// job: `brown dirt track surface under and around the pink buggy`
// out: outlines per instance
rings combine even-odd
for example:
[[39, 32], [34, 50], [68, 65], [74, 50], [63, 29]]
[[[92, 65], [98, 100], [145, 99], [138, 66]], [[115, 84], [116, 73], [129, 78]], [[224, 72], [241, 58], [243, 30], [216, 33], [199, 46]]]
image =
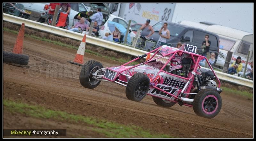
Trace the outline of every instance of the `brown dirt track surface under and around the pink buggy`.
[[[16, 37], [4, 31], [4, 51], [12, 52]], [[223, 91], [220, 113], [213, 119], [206, 119], [197, 116], [191, 107], [180, 107], [178, 104], [171, 108], [157, 106], [151, 96], [146, 96], [140, 102], [128, 100], [125, 87], [115, 83], [101, 82], [93, 90], [82, 87], [79, 82], [82, 67], [67, 62], [73, 61], [75, 49], [25, 37], [23, 54], [29, 55], [29, 68], [3, 64], [5, 99], [137, 125], [151, 132], [174, 137], [253, 136], [252, 100], [234, 97]], [[84, 63], [91, 59], [101, 62], [103, 67], [121, 65], [85, 53]], [[84, 137], [104, 137], [76, 123], [42, 120], [4, 111], [4, 129], [33, 128], [66, 128], [70, 137], [79, 132]], [[80, 130], [74, 131], [77, 128]]]

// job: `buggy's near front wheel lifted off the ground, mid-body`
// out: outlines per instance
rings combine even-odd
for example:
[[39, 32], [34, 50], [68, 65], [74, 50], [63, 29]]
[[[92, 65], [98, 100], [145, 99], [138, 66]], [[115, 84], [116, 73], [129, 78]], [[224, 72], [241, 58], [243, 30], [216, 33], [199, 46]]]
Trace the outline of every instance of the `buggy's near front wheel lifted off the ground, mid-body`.
[[143, 73], [134, 74], [127, 83], [126, 97], [132, 101], [141, 101], [148, 93], [149, 78]]

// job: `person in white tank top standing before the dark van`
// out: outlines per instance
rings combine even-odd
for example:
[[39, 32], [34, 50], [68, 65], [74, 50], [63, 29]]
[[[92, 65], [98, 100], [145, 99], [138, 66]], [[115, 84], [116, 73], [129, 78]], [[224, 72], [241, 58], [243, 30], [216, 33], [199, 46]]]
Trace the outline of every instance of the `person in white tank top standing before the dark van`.
[[161, 43], [166, 43], [166, 39], [170, 39], [170, 31], [167, 28], [168, 24], [165, 22], [163, 27], [160, 29], [159, 31], [159, 39], [156, 43], [156, 48], [158, 48], [159, 46], [161, 46]]

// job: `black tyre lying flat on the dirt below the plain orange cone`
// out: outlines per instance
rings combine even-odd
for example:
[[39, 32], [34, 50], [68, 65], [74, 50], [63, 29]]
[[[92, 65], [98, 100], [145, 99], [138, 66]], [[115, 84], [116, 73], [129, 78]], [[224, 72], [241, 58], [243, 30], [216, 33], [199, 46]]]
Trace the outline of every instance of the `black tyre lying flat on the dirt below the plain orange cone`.
[[15, 54], [12, 52], [3, 51], [4, 62], [15, 63], [20, 65], [28, 65], [29, 57], [28, 55]]

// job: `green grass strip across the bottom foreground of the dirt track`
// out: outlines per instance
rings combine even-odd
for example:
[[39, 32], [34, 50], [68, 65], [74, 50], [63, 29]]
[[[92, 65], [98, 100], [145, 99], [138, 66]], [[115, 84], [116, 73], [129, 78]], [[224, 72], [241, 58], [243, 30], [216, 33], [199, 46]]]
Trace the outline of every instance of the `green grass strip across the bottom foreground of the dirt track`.
[[12, 113], [25, 114], [27, 116], [43, 119], [54, 119], [58, 121], [84, 122], [92, 125], [89, 129], [105, 135], [106, 137], [114, 138], [129, 138], [129, 137], [155, 137], [155, 138], [171, 138], [166, 134], [151, 134], [149, 131], [134, 125], [124, 125], [112, 121], [96, 119], [92, 117], [68, 114], [63, 111], [54, 111], [46, 109], [42, 106], [33, 106], [26, 103], [15, 102], [11, 100], [3, 100], [4, 109]]

